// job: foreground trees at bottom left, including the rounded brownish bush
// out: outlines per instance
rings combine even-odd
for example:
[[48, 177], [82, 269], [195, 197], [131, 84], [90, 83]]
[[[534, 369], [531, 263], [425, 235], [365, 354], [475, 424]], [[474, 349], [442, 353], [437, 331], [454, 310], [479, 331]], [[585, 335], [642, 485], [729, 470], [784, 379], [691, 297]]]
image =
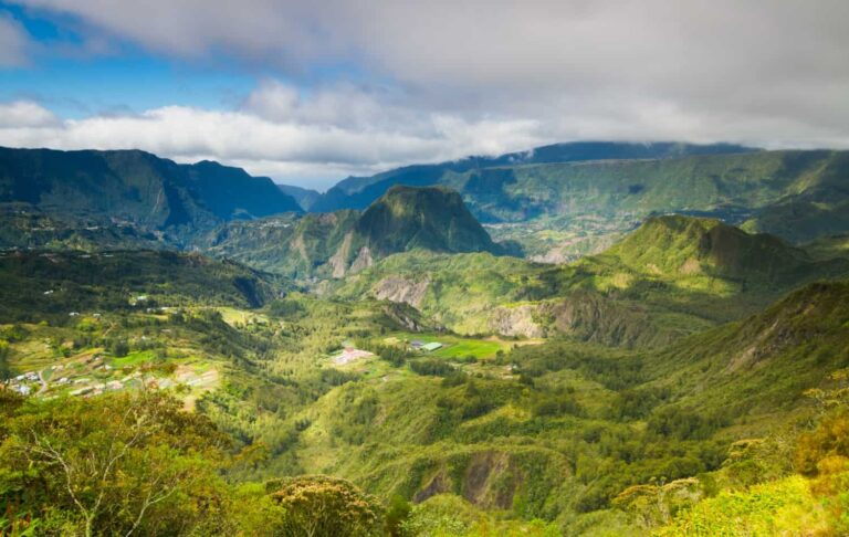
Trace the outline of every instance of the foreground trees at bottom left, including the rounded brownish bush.
[[375, 535], [382, 520], [380, 504], [345, 480], [228, 484], [220, 471], [247, 454], [159, 392], [0, 396], [4, 534]]

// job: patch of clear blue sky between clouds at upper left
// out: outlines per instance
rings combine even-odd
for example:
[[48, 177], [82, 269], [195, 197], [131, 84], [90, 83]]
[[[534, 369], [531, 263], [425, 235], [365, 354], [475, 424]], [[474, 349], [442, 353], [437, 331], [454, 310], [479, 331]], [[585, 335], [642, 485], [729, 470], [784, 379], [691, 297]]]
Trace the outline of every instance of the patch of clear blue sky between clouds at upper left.
[[63, 117], [140, 112], [168, 105], [232, 108], [256, 85], [258, 73], [231, 62], [192, 65], [151, 54], [132, 42], [87, 52], [73, 18], [0, 2], [0, 11], [31, 38], [28, 63], [0, 71], [0, 99], [35, 99]]

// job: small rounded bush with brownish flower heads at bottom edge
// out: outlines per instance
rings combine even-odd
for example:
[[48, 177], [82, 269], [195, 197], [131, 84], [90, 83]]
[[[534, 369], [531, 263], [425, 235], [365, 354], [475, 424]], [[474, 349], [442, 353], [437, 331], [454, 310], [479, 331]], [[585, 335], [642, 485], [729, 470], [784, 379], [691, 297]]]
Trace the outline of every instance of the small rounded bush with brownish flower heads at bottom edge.
[[271, 482], [272, 499], [285, 509], [283, 535], [367, 536], [381, 531], [382, 508], [349, 481], [325, 475]]

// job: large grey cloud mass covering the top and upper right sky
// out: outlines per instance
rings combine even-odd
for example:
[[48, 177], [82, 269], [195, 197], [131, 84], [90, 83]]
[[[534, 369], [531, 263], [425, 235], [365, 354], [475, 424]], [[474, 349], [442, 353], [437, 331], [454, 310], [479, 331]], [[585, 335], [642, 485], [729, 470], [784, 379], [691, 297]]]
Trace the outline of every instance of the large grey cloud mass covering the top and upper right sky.
[[302, 82], [339, 65], [390, 81], [308, 96], [268, 81], [244, 109], [281, 125], [423, 128], [415, 137], [430, 139], [442, 135], [422, 116], [497, 117], [535, 123], [545, 139], [800, 145], [840, 144], [849, 125], [845, 0], [17, 2], [70, 14], [86, 40], [189, 61], [229, 55]]

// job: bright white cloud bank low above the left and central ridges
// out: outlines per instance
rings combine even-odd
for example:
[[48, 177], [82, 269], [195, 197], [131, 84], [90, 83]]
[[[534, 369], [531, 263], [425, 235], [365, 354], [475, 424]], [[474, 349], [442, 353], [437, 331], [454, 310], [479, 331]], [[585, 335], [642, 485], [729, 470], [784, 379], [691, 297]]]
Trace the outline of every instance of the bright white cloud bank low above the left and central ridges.
[[[289, 90], [281, 87], [281, 92]], [[408, 114], [415, 116], [410, 123], [374, 124], [366, 128], [370, 115], [364, 115], [357, 118], [358, 125], [347, 126], [344, 109], [324, 106], [334, 99], [335, 96], [325, 93], [317, 103], [307, 99], [298, 105], [291, 117], [277, 115], [273, 119], [248, 108], [218, 112], [169, 106], [139, 115], [99, 115], [61, 122], [35, 103], [17, 102], [0, 105], [0, 114], [12, 110], [4, 115], [9, 120], [0, 123], [0, 145], [140, 148], [178, 161], [214, 159], [282, 182], [326, 188], [346, 175], [370, 175], [410, 162], [499, 152], [539, 141], [531, 133], [533, 125], [526, 122], [469, 123], [461, 118], [415, 116], [412, 112]], [[379, 116], [378, 110], [374, 114], [375, 118]]]

